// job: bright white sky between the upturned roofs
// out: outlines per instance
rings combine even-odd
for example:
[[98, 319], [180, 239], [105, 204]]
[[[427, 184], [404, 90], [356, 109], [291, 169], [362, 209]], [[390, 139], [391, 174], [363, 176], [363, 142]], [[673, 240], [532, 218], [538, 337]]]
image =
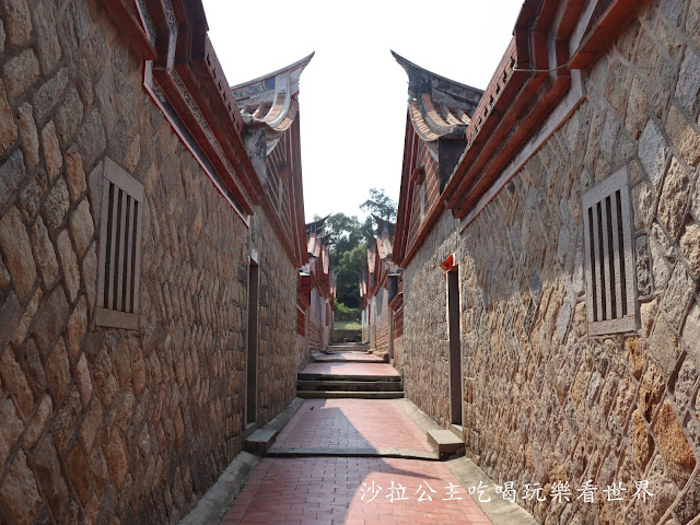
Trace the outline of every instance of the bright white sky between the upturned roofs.
[[304, 210], [364, 213], [372, 187], [398, 200], [407, 77], [389, 49], [486, 89], [522, 0], [203, 0], [230, 84], [315, 57], [300, 82]]

